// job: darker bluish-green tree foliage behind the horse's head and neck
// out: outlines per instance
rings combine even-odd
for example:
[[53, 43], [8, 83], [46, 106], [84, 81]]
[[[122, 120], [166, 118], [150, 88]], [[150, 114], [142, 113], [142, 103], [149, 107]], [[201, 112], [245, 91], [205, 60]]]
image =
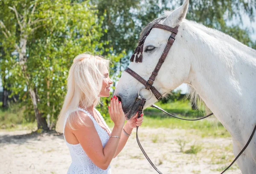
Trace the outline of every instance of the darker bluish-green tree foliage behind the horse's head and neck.
[[[183, 0], [93, 0], [100, 15], [104, 15], [102, 29], [108, 32], [103, 33], [101, 40], [109, 41], [104, 47], [113, 47], [113, 53], [125, 51], [128, 55], [133, 52], [137, 45], [139, 34], [143, 27], [153, 19], [160, 17], [164, 10], [175, 9], [183, 3]], [[241, 20], [241, 14], [248, 15], [253, 20], [253, 8], [255, 0], [209, 0], [189, 1], [187, 19], [203, 23], [211, 28], [222, 30], [234, 36], [236, 39], [249, 46], [249, 40], [237, 36], [235, 33], [242, 32], [245, 38], [249, 38], [247, 29], [240, 29], [239, 26], [228, 26], [227, 22], [237, 17]], [[233, 31], [230, 31], [233, 29]], [[128, 64], [128, 58], [121, 60], [122, 65]]]

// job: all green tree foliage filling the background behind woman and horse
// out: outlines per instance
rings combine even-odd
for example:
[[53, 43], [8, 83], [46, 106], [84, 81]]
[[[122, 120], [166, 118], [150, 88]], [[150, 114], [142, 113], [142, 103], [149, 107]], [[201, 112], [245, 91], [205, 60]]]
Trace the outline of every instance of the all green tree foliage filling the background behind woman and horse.
[[[81, 52], [105, 55], [113, 64], [110, 76], [117, 81], [123, 67], [128, 64], [128, 55], [133, 52], [139, 33], [151, 20], [163, 14], [165, 9], [174, 9], [183, 0], [1, 0], [0, 6], [0, 76], [11, 84], [9, 90], [19, 94], [26, 106], [23, 117], [35, 120], [33, 104], [28, 92], [34, 89], [38, 109], [43, 116], [50, 114], [55, 121], [66, 93], [66, 79], [73, 58]], [[247, 14], [254, 17], [255, 1], [246, 0], [190, 0], [187, 18], [219, 29], [242, 43], [256, 48], [248, 29], [228, 26], [232, 17]], [[17, 9], [18, 15], [14, 12]], [[18, 16], [18, 17], [17, 17]], [[20, 26], [20, 22], [26, 25]], [[22, 28], [22, 29], [21, 29]], [[6, 37], [8, 36], [8, 37]], [[21, 70], [19, 55], [20, 38], [26, 36], [28, 77]], [[6, 85], [4, 84], [4, 85]], [[7, 86], [6, 86], [7, 87]], [[112, 95], [112, 94], [111, 94]], [[174, 93], [167, 111], [183, 116], [201, 116], [190, 104], [175, 102], [182, 97]], [[98, 109], [108, 115], [109, 98], [102, 98]], [[179, 106], [184, 107], [181, 109]], [[150, 108], [145, 113], [158, 119], [160, 113]], [[152, 119], [153, 120], [153, 119]]]

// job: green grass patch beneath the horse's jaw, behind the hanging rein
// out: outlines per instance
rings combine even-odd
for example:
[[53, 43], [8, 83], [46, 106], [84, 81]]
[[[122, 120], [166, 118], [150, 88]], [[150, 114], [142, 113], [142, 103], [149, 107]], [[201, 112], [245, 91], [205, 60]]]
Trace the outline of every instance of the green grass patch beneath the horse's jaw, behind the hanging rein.
[[[156, 103], [169, 113], [183, 118], [195, 119], [204, 116], [203, 110], [192, 110], [188, 101], [177, 101], [172, 103], [161, 104]], [[229, 137], [230, 133], [226, 131], [220, 122], [210, 122], [208, 119], [198, 121], [186, 121], [167, 116], [160, 110], [155, 108], [147, 108], [144, 110], [144, 119], [141, 128], [170, 128], [170, 129], [192, 129], [199, 136]], [[214, 116], [211, 116], [214, 117]], [[113, 122], [108, 119], [107, 124], [113, 127]]]

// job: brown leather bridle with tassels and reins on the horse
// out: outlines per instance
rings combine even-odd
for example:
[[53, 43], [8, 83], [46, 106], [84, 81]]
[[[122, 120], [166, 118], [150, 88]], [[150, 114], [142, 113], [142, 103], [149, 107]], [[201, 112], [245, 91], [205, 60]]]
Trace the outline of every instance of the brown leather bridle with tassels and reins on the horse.
[[[166, 59], [166, 56], [168, 55], [168, 52], [169, 50], [171, 49], [172, 47], [172, 44], [174, 43], [175, 41], [175, 36], [177, 35], [177, 32], [178, 32], [178, 28], [179, 28], [179, 25], [176, 26], [175, 28], [172, 28], [170, 26], [166, 26], [166, 25], [162, 25], [162, 24], [159, 24], [159, 23], [155, 23], [151, 29], [153, 28], [159, 28], [159, 29], [164, 29], [164, 30], [167, 30], [169, 32], [172, 32], [172, 34], [170, 35], [169, 39], [168, 39], [168, 42], [166, 44], [166, 47], [160, 57], [160, 59], [158, 60], [157, 62], [157, 65], [154, 69], [154, 71], [152, 72], [151, 76], [149, 77], [148, 81], [146, 81], [144, 78], [142, 78], [140, 75], [138, 75], [137, 73], [135, 73], [133, 70], [131, 70], [130, 68], [126, 68], [125, 69], [125, 72], [127, 72], [128, 74], [130, 74], [131, 76], [133, 76], [135, 79], [137, 79], [137, 81], [139, 81], [140, 83], [142, 83], [145, 87], [142, 87], [140, 88], [140, 90], [142, 89], [146, 89], [146, 90], [149, 90], [151, 92], [151, 96], [152, 96], [152, 93], [154, 94], [154, 96], [157, 98], [157, 100], [160, 100], [162, 98], [162, 95], [161, 93], [154, 87], [152, 86], [153, 83], [154, 83], [154, 80], [157, 76], [157, 73], [159, 72], [163, 62], [165, 61]], [[143, 44], [145, 42], [145, 39], [146, 37], [149, 35], [149, 32], [151, 31], [151, 29], [149, 29], [149, 31], [145, 34], [144, 38], [142, 40], [139, 41], [138, 43], [138, 46], [137, 48], [135, 49], [134, 51], [134, 54], [131, 56], [131, 59], [130, 61], [134, 61], [134, 58], [135, 59], [135, 62], [142, 62], [142, 53], [143, 53]], [[135, 56], [136, 55], [136, 56]], [[140, 55], [140, 56], [139, 56]], [[145, 105], [145, 102], [149, 99], [151, 99], [151, 96], [148, 98], [148, 99], [144, 99], [140, 96], [140, 90], [138, 92], [138, 97], [137, 97], [137, 100], [140, 100], [140, 104], [139, 104], [139, 107], [138, 107], [138, 118], [140, 118], [140, 115], [141, 113], [143, 112], [143, 107]], [[174, 116], [168, 112], [166, 112], [165, 110], [163, 110], [162, 108], [156, 106], [156, 105], [151, 105], [151, 107], [154, 107], [154, 108], [157, 108], [158, 110], [161, 110], [163, 111], [164, 113], [168, 114], [169, 116], [172, 116], [172, 117], [175, 117], [177, 119], [182, 119], [182, 120], [188, 120], [188, 121], [196, 121], [196, 120], [201, 120], [201, 119], [204, 119], [204, 118], [207, 118], [208, 116], [211, 116], [213, 115], [213, 113], [210, 113], [208, 114], [207, 116], [204, 116], [204, 117], [201, 117], [201, 118], [198, 118], [198, 119], [183, 119], [183, 118], [180, 118], [180, 117], [177, 117], [177, 116]], [[146, 154], [146, 152], [144, 151], [142, 145], [140, 144], [140, 140], [139, 140], [139, 137], [138, 137], [138, 126], [137, 126], [137, 129], [136, 129], [136, 139], [137, 139], [137, 142], [138, 142], [138, 145], [141, 149], [141, 151], [143, 152], [144, 156], [146, 157], [146, 159], [148, 160], [148, 162], [152, 165], [152, 167], [159, 173], [159, 174], [162, 174], [158, 169], [157, 167], [153, 164], [153, 162], [150, 160], [150, 158], [148, 157], [148, 155]], [[234, 164], [234, 162], [239, 158], [239, 156], [244, 152], [244, 150], [247, 148], [247, 146], [249, 145], [251, 139], [253, 138], [253, 134], [255, 133], [255, 130], [256, 130], [256, 125], [253, 129], [253, 132], [249, 138], [249, 140], [247, 141], [246, 145], [244, 146], [244, 148], [241, 150], [241, 152], [237, 155], [237, 157], [233, 160], [233, 162], [224, 170], [221, 172], [221, 174], [223, 174], [225, 171], [228, 170], [228, 168], [231, 167], [231, 165]]]

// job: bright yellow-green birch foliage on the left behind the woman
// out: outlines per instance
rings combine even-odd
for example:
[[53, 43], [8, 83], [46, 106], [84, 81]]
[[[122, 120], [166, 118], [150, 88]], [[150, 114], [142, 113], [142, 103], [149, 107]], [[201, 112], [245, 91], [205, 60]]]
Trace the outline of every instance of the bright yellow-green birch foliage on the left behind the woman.
[[[28, 116], [34, 115], [27, 91], [30, 87], [36, 91], [39, 112], [44, 116], [53, 115], [51, 119], [54, 121], [64, 101], [66, 79], [73, 58], [82, 52], [102, 54], [104, 42], [99, 42], [99, 39], [103, 32], [103, 18], [98, 16], [98, 11], [87, 1], [5, 0], [0, 3], [5, 9], [0, 12], [5, 25], [2, 25], [2, 31], [8, 30], [11, 33], [10, 37], [0, 40], [5, 52], [1, 59], [1, 70], [5, 74], [1, 76], [8, 76], [7, 81], [12, 84], [10, 89], [13, 94], [20, 93], [20, 99], [23, 104], [26, 103]], [[22, 26], [24, 31], [9, 6], [15, 6], [25, 23], [30, 23]], [[17, 49], [15, 45], [20, 44], [20, 35], [27, 35], [26, 65], [29, 78], [23, 75], [18, 55], [14, 52]], [[110, 58], [117, 61], [118, 56]]]

